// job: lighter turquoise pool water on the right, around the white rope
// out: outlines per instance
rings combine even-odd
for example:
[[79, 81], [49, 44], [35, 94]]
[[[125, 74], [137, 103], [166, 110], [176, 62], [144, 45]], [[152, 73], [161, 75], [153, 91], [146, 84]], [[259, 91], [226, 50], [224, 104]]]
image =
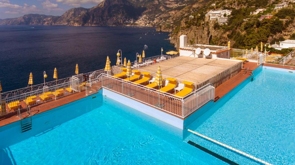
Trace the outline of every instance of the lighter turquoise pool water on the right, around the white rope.
[[[295, 164], [295, 73], [263, 68], [187, 128], [271, 164]], [[238, 164], [256, 164], [207, 140], [191, 140]]]

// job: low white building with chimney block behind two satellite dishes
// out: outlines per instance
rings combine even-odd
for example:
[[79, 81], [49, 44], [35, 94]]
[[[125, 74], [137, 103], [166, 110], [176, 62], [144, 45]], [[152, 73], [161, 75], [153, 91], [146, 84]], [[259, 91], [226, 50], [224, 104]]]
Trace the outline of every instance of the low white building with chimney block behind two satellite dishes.
[[[230, 59], [230, 49], [228, 46], [215, 46], [215, 45], [202, 45], [194, 44], [187, 45], [187, 36], [181, 35], [180, 37], [180, 55], [196, 58], [227, 58]], [[209, 55], [204, 54], [204, 50], [208, 48], [210, 50]], [[198, 49], [201, 52], [198, 54]]]

